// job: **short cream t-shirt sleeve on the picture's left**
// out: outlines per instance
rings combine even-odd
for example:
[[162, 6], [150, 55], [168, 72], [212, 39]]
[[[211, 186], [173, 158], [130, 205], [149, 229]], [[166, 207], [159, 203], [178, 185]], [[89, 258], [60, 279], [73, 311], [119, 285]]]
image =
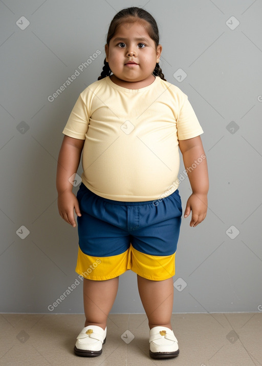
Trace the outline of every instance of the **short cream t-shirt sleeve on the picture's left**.
[[88, 132], [89, 122], [88, 108], [80, 94], [63, 129], [63, 134], [84, 140], [85, 134]]

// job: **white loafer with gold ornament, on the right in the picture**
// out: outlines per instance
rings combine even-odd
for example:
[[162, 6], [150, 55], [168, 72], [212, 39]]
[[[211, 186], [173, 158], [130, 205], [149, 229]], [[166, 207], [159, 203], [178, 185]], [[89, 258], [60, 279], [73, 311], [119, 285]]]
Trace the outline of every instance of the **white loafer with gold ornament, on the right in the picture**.
[[154, 327], [149, 331], [149, 354], [152, 358], [172, 358], [179, 355], [178, 340], [171, 329]]

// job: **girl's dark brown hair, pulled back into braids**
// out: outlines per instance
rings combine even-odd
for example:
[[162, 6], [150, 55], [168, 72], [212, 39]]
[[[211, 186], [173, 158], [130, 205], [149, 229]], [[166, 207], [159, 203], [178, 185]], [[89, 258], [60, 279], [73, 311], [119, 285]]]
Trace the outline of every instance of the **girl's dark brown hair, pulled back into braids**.
[[[143, 19], [148, 23], [148, 27], [146, 27], [147, 33], [149, 37], [155, 42], [156, 47], [159, 45], [159, 33], [158, 33], [158, 26], [156, 20], [149, 14], [146, 10], [132, 7], [120, 10], [112, 19], [108, 33], [106, 38], [106, 43], [109, 45], [111, 38], [114, 36], [115, 32], [117, 31], [118, 27], [122, 25], [124, 22], [133, 23], [139, 19]], [[101, 75], [99, 76], [98, 80], [103, 79], [107, 76], [111, 75], [111, 69], [109, 67], [108, 62], [104, 59], [104, 67]], [[164, 74], [162, 72], [159, 63], [156, 63], [155, 69], [152, 72], [154, 76], [159, 76], [161, 79], [165, 80]]]

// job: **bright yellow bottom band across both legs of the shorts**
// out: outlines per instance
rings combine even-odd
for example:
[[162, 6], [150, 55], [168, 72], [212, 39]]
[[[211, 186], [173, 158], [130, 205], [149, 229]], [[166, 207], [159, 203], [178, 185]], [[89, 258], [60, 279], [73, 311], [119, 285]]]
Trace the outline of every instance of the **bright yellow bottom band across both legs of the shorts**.
[[148, 280], [163, 281], [175, 274], [175, 256], [176, 253], [167, 256], [149, 255], [139, 252], [130, 245], [124, 253], [110, 257], [95, 257], [84, 254], [78, 248], [76, 272], [84, 278], [103, 281], [132, 270]]

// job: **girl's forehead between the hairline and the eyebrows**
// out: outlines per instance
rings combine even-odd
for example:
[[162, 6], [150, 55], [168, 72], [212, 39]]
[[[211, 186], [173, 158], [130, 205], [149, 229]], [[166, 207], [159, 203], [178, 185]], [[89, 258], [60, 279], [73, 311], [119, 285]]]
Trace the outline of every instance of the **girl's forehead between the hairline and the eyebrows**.
[[[123, 37], [130, 38], [147, 38], [148, 41], [152, 41], [147, 33], [146, 27], [148, 23], [146, 21], [124, 22], [117, 29], [112, 39]], [[154, 42], [154, 41], [153, 41]]]

